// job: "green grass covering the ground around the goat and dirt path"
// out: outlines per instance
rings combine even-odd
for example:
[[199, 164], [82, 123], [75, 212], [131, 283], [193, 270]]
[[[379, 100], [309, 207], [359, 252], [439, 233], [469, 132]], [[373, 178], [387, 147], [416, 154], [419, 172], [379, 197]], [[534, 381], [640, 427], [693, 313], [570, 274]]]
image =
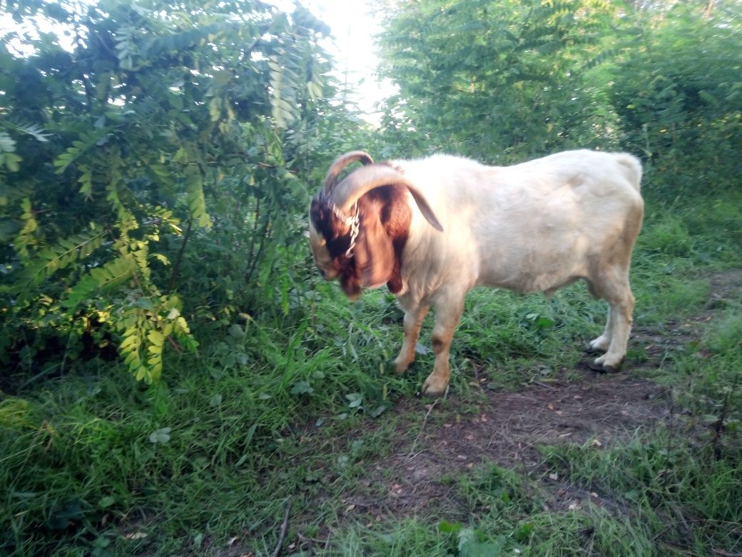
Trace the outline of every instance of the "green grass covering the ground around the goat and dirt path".
[[271, 555], [289, 501], [283, 555], [740, 553], [738, 285], [709, 306], [712, 276], [742, 267], [740, 201], [650, 206], [635, 328], [679, 340], [651, 362], [632, 347], [627, 373], [666, 385], [672, 412], [617, 445], [542, 446], [534, 466], [443, 462], [419, 484], [440, 490], [433, 502], [404, 503], [395, 478], [420, 470], [390, 467], [394, 455], [431, 451], [426, 431], [487, 411], [487, 390], [580, 381], [605, 306], [581, 285], [551, 299], [474, 291], [449, 400], [431, 411], [413, 395], [432, 354], [401, 377], [386, 364], [401, 340], [393, 299], [350, 304], [317, 282], [311, 311], [212, 333], [199, 359], [171, 356], [160, 385], [92, 361], [0, 394], [0, 553]]

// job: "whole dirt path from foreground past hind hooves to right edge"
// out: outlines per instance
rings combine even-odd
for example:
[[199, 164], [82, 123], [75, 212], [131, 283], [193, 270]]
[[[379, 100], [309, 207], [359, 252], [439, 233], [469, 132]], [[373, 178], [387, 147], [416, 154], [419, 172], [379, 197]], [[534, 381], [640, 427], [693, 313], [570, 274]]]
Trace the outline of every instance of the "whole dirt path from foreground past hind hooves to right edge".
[[551, 509], [574, 508], [587, 498], [603, 504], [597, 494], [550, 477], [538, 446], [620, 445], [637, 431], [649, 431], [667, 420], [671, 412], [666, 388], [638, 372], [658, 368], [672, 351], [697, 340], [706, 322], [741, 296], [742, 270], [715, 274], [710, 281], [709, 302], [693, 319], [672, 324], [662, 333], [648, 328], [634, 331], [631, 343], [640, 347], [643, 361], [627, 365], [623, 372], [595, 374], [588, 369], [586, 356], [577, 380], [573, 371], [569, 378], [517, 392], [489, 391], [483, 385], [486, 400], [479, 404], [457, 397], [427, 405], [399, 401], [393, 408], [399, 421], [391, 454], [370, 462], [367, 478], [342, 503], [355, 519], [459, 512], [465, 518], [450, 478], [494, 463], [541, 477], [539, 483], [551, 494], [546, 502]]

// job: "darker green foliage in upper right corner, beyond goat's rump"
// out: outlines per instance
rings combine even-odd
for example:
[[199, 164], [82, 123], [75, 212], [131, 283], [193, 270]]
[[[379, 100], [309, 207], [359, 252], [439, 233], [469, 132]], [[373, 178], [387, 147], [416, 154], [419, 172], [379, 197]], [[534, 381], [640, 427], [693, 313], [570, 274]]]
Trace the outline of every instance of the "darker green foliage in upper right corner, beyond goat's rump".
[[711, 13], [676, 4], [646, 19], [636, 48], [614, 60], [608, 94], [623, 144], [654, 167], [657, 188], [679, 195], [739, 186], [741, 51], [742, 4]]

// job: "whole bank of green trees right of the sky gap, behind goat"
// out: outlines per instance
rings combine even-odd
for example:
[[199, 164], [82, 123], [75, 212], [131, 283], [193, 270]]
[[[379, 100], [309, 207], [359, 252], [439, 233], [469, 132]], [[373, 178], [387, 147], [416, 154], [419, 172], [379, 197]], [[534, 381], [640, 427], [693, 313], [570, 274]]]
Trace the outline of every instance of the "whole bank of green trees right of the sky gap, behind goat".
[[[699, 158], [732, 178], [742, 137], [741, 4], [712, 6], [386, 3], [381, 73], [398, 84], [387, 137], [498, 163], [622, 147], [689, 183], [706, 175]], [[708, 148], [703, 157], [698, 144]]]

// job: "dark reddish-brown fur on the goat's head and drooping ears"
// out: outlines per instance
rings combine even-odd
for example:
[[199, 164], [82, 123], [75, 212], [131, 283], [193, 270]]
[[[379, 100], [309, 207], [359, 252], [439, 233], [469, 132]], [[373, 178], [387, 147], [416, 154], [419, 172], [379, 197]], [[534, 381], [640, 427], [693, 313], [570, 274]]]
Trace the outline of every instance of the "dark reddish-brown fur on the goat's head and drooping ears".
[[350, 298], [361, 287], [375, 288], [387, 283], [398, 293], [402, 288], [401, 255], [412, 220], [407, 189], [381, 186], [358, 199], [358, 238], [352, 255], [350, 228], [338, 219], [321, 196], [309, 209], [309, 241], [315, 262], [327, 280], [339, 277]]

